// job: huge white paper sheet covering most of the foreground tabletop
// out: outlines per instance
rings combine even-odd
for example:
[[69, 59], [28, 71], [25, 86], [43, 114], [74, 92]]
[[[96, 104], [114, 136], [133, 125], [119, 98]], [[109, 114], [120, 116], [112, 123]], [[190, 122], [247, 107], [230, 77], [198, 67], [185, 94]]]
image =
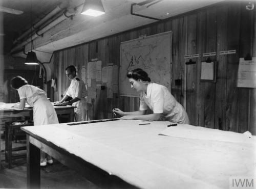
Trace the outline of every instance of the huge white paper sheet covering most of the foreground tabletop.
[[24, 128], [139, 188], [226, 189], [231, 176], [255, 175], [255, 143], [159, 136], [169, 122], [140, 123]]

